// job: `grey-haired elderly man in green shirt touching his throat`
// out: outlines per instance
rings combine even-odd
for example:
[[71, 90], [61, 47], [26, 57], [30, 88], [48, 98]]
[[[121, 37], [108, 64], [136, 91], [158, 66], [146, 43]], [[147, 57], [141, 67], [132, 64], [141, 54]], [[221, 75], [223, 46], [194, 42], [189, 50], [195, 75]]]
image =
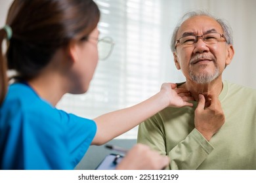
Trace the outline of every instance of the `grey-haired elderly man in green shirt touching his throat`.
[[232, 30], [203, 11], [173, 32], [177, 69], [194, 107], [165, 108], [139, 125], [138, 142], [170, 158], [168, 169], [256, 169], [256, 91], [223, 80], [234, 56]]

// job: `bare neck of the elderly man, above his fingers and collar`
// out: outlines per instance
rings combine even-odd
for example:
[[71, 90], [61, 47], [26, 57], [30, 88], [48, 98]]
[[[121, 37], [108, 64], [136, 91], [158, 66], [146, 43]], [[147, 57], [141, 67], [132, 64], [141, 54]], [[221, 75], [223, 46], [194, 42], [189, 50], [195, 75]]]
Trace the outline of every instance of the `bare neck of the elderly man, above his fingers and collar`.
[[188, 90], [196, 101], [198, 101], [198, 96], [200, 93], [205, 96], [207, 101], [209, 95], [219, 96], [223, 90], [223, 82], [221, 78], [216, 78], [215, 80], [206, 84], [198, 84], [192, 80], [187, 80], [184, 84], [181, 85], [181, 88]]

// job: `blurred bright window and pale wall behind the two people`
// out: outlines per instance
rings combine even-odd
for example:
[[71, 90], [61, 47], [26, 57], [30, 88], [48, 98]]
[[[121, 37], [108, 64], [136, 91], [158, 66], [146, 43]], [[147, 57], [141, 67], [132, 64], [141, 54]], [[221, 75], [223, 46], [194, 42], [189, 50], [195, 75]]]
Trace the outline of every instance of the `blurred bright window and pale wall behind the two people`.
[[[256, 88], [256, 1], [253, 0], [95, 0], [101, 11], [100, 37], [115, 46], [110, 58], [99, 61], [89, 92], [66, 94], [58, 103], [85, 118], [135, 105], [154, 95], [163, 82], [183, 82], [170, 50], [179, 18], [198, 8], [227, 20], [233, 29], [235, 56], [224, 80]], [[0, 0], [0, 27], [11, 0]], [[40, 35], [39, 35], [40, 36]], [[136, 139], [137, 127], [117, 137]]]

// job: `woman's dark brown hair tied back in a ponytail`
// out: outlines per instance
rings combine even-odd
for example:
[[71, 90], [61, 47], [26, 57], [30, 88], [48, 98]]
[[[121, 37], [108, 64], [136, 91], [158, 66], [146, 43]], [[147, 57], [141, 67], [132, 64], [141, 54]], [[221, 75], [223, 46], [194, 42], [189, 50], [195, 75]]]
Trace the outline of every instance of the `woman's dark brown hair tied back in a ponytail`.
[[[87, 41], [99, 20], [93, 0], [14, 0], [6, 21], [12, 29], [7, 54], [0, 50], [0, 105], [8, 90], [7, 69], [21, 80], [34, 78], [58, 48]], [[0, 29], [0, 45], [5, 38], [5, 29]]]

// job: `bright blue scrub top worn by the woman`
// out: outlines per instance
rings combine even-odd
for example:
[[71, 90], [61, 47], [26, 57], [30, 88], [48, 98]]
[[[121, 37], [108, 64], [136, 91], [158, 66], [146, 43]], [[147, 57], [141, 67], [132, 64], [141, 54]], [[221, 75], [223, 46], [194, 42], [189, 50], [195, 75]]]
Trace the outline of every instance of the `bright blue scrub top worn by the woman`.
[[96, 133], [93, 120], [58, 110], [27, 84], [0, 107], [0, 169], [74, 169]]

